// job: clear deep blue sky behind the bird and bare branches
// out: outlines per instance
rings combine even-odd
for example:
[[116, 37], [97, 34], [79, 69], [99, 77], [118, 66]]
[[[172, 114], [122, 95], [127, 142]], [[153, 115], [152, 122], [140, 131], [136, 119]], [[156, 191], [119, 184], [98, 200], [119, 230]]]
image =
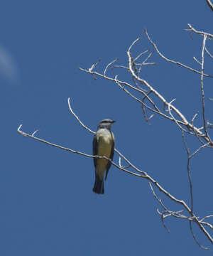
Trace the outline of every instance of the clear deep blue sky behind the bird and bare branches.
[[[181, 132], [155, 116], [148, 125], [141, 106], [117, 85], [78, 69], [99, 58], [101, 72], [114, 58], [125, 65], [126, 50], [143, 28], [168, 57], [193, 68], [199, 65], [200, 36], [184, 31], [187, 23], [212, 31], [213, 12], [203, 1], [2, 1], [0, 10], [1, 82], [1, 255], [202, 255], [186, 220], [165, 220], [148, 182], [111, 167], [104, 196], [92, 192], [92, 159], [22, 137], [16, 130], [92, 154], [89, 134], [70, 114], [67, 98], [94, 131], [104, 118], [116, 119], [116, 148], [165, 189], [189, 203], [187, 156]], [[213, 48], [208, 42], [209, 50]], [[152, 49], [146, 37], [133, 53]], [[166, 63], [158, 55], [143, 78], [187, 118], [201, 110], [200, 76]], [[206, 72], [212, 73], [207, 58]], [[131, 78], [122, 70], [123, 80]], [[204, 80], [207, 97], [212, 80]], [[212, 119], [212, 102], [207, 117]], [[201, 115], [200, 115], [201, 117]], [[197, 126], [200, 125], [200, 117]], [[195, 138], [188, 138], [197, 149]], [[195, 212], [213, 213], [212, 155], [204, 149], [192, 161]], [[115, 161], [118, 156], [115, 154]], [[155, 190], [171, 210], [181, 210]], [[195, 227], [202, 245], [209, 246]]]

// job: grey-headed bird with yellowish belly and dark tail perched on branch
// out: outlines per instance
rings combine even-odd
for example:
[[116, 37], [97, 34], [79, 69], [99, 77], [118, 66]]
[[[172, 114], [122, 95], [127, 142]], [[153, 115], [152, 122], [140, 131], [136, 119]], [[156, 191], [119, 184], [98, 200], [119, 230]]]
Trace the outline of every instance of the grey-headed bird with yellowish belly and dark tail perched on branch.
[[[94, 156], [106, 156], [107, 158], [113, 160], [114, 156], [114, 134], [111, 132], [111, 124], [115, 121], [110, 119], [104, 119], [98, 124], [98, 129], [93, 137], [93, 155]], [[94, 193], [103, 194], [104, 193], [104, 171], [106, 172], [105, 180], [107, 179], [107, 174], [111, 166], [111, 162], [107, 159], [96, 159], [94, 158], [94, 168], [95, 168], [95, 181], [94, 188], [92, 189]]]

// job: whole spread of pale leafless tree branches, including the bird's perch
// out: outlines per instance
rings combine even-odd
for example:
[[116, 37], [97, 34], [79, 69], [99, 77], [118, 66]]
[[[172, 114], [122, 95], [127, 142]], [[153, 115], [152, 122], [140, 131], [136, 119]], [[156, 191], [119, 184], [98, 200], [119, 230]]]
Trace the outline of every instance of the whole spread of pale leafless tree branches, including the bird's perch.
[[[133, 100], [136, 100], [136, 102], [138, 102], [141, 105], [142, 110], [143, 110], [143, 116], [147, 122], [153, 117], [154, 114], [159, 114], [160, 116], [165, 117], [165, 119], [170, 119], [170, 121], [175, 122], [175, 124], [180, 128], [180, 130], [182, 132], [182, 141], [185, 146], [185, 150], [187, 151], [187, 174], [188, 174], [188, 179], [189, 179], [189, 183], [190, 183], [190, 205], [189, 206], [187, 205], [187, 203], [185, 203], [185, 201], [176, 198], [171, 193], [166, 191], [165, 188], [163, 188], [163, 186], [160, 186], [160, 184], [157, 181], [155, 181], [154, 178], [149, 176], [146, 171], [142, 171], [141, 169], [138, 169], [138, 167], [136, 167], [134, 164], [132, 164], [131, 161], [129, 161], [129, 159], [127, 159], [126, 156], [121, 154], [121, 152], [118, 149], [114, 149], [114, 151], [117, 154], [119, 154], [118, 164], [116, 164], [116, 162], [111, 161], [111, 159], [108, 159], [105, 156], [93, 156], [91, 154], [86, 154], [82, 151], [76, 151], [73, 149], [69, 149], [67, 147], [60, 146], [58, 144], [53, 144], [44, 139], [35, 137], [35, 134], [38, 132], [38, 130], [36, 130], [32, 134], [28, 134], [21, 130], [22, 125], [20, 125], [20, 127], [18, 127], [18, 133], [25, 137], [30, 137], [31, 139], [35, 139], [39, 142], [43, 142], [50, 146], [55, 146], [55, 147], [58, 147], [60, 149], [66, 150], [66, 151], [70, 151], [75, 154], [80, 154], [82, 156], [86, 156], [86, 157], [90, 157], [90, 158], [106, 159], [112, 165], [114, 165], [117, 169], [120, 169], [121, 171], [125, 171], [128, 174], [137, 176], [138, 178], [144, 178], [145, 180], [149, 181], [149, 185], [151, 186], [151, 191], [153, 193], [154, 198], [158, 201], [158, 203], [160, 203], [160, 206], [163, 208], [162, 212], [160, 212], [160, 210], [157, 210], [157, 211], [158, 211], [158, 214], [160, 214], [160, 218], [162, 220], [162, 223], [163, 223], [163, 226], [165, 227], [165, 229], [169, 232], [168, 228], [165, 225], [165, 218], [168, 218], [171, 216], [174, 218], [182, 218], [184, 220], [187, 220], [187, 221], [189, 221], [190, 232], [192, 233], [192, 236], [195, 239], [195, 242], [197, 242], [197, 244], [200, 247], [202, 247], [203, 249], [208, 249], [207, 247], [203, 247], [202, 245], [200, 245], [200, 243], [198, 242], [198, 240], [192, 230], [192, 223], [195, 223], [198, 226], [198, 228], [200, 228], [202, 233], [204, 233], [204, 235], [207, 237], [207, 239], [213, 245], [213, 238], [205, 229], [205, 228], [213, 229], [213, 225], [208, 223], [207, 221], [204, 221], [207, 218], [212, 217], [213, 215], [208, 215], [200, 220], [200, 217], [197, 217], [197, 215], [195, 215], [195, 213], [194, 213], [193, 194], [192, 194], [192, 177], [191, 177], [191, 171], [190, 171], [190, 159], [192, 159], [192, 157], [195, 156], [195, 154], [197, 154], [204, 147], [213, 147], [213, 142], [209, 138], [209, 134], [207, 133], [207, 129], [213, 127], [213, 124], [209, 123], [209, 121], [206, 122], [207, 119], [206, 119], [206, 115], [205, 115], [205, 98], [204, 98], [204, 96], [205, 96], [204, 95], [204, 77], [213, 78], [213, 76], [211, 76], [211, 75], [204, 74], [204, 51], [207, 52], [207, 54], [211, 58], [213, 57], [206, 48], [207, 39], [211, 39], [211, 38], [213, 38], [213, 36], [209, 33], [204, 33], [202, 31], [195, 30], [195, 28], [192, 28], [192, 26], [190, 24], [188, 24], [188, 26], [190, 29], [188, 29], [187, 31], [195, 32], [195, 33], [203, 36], [201, 61], [199, 61], [199, 60], [197, 60], [197, 58], [193, 57], [193, 59], [200, 65], [200, 67], [201, 67], [200, 71], [190, 68], [189, 66], [184, 65], [178, 61], [174, 61], [174, 60], [170, 60], [170, 59], [166, 58], [163, 55], [163, 53], [160, 53], [160, 51], [158, 50], [158, 47], [156, 46], [155, 43], [153, 43], [153, 41], [151, 40], [151, 38], [148, 35], [148, 32], [146, 30], [145, 30], [145, 33], [148, 38], [148, 41], [153, 45], [156, 52], [158, 53], [158, 55], [160, 55], [161, 58], [163, 58], [164, 60], [166, 60], [170, 63], [179, 65], [182, 68], [187, 68], [187, 70], [190, 70], [194, 73], [200, 74], [200, 87], [201, 87], [201, 97], [202, 97], [202, 122], [203, 122], [203, 127], [201, 127], [201, 128], [197, 128], [194, 125], [194, 121], [195, 121], [195, 118], [197, 117], [197, 113], [194, 115], [194, 117], [192, 117], [192, 121], [188, 122], [187, 118], [185, 117], [185, 114], [182, 114], [182, 112], [180, 112], [180, 110], [178, 110], [178, 108], [173, 105], [173, 102], [175, 101], [175, 99], [168, 102], [167, 100], [165, 100], [165, 97], [163, 97], [163, 95], [161, 95], [158, 92], [158, 90], [155, 90], [155, 87], [151, 86], [151, 84], [149, 84], [146, 80], [141, 78], [142, 75], [140, 74], [140, 72], [141, 72], [141, 68], [143, 67], [143, 65], [151, 65], [151, 64], [155, 64], [155, 63], [151, 63], [151, 62], [147, 63], [148, 59], [151, 58], [151, 55], [153, 54], [152, 52], [148, 54], [148, 57], [144, 57], [145, 60], [143, 60], [141, 63], [136, 63], [136, 61], [138, 61], [138, 59], [141, 58], [141, 56], [148, 53], [148, 50], [145, 50], [142, 53], [136, 55], [136, 57], [134, 57], [133, 54], [131, 53], [131, 49], [140, 40], [140, 38], [137, 38], [136, 41], [133, 41], [133, 43], [131, 43], [131, 46], [129, 47], [129, 49], [127, 51], [129, 66], [126, 67], [125, 65], [114, 65], [114, 67], [111, 67], [111, 69], [112, 68], [124, 68], [125, 70], [128, 70], [128, 73], [129, 73], [129, 75], [131, 75], [133, 82], [129, 83], [129, 82], [121, 81], [118, 79], [118, 75], [116, 75], [114, 78], [109, 77], [107, 75], [108, 68], [113, 63], [115, 63], [116, 60], [118, 60], [117, 58], [115, 60], [112, 60], [111, 63], [107, 64], [107, 66], [104, 68], [103, 73], [97, 73], [95, 71], [95, 68], [99, 64], [100, 60], [98, 60], [97, 63], [93, 64], [92, 67], [89, 68], [88, 70], [85, 70], [83, 68], [80, 68], [80, 70], [83, 70], [84, 72], [89, 73], [94, 78], [96, 78], [96, 76], [99, 76], [100, 78], [107, 79], [111, 82], [114, 82], [114, 84], [118, 85], [121, 88], [121, 90], [124, 90], [124, 92], [126, 92], [127, 95], [129, 95]], [[145, 89], [143, 89], [143, 87]], [[157, 101], [155, 102], [156, 98], [157, 98]], [[209, 99], [212, 100], [211, 98], [209, 98]], [[68, 106], [69, 106], [70, 112], [77, 119], [77, 122], [79, 122], [80, 125], [82, 127], [84, 127], [84, 129], [87, 129], [88, 132], [95, 134], [95, 132], [92, 131], [92, 129], [89, 129], [89, 127], [87, 127], [80, 120], [80, 118], [77, 116], [77, 114], [75, 114], [75, 112], [72, 110], [70, 98], [68, 98]], [[152, 112], [151, 115], [148, 112], [148, 110], [150, 110]], [[148, 117], [148, 115], [150, 115], [150, 117]], [[198, 147], [198, 149], [195, 150], [192, 154], [190, 154], [190, 148], [187, 146], [187, 143], [186, 143], [186, 138], [185, 138], [186, 134], [196, 136], [200, 142], [200, 147]], [[124, 165], [122, 165], [123, 163], [121, 164], [121, 161], [124, 161]], [[131, 171], [129, 171], [128, 169], [130, 169]], [[164, 196], [169, 198], [170, 201], [178, 203], [178, 205], [181, 206], [182, 210], [172, 211], [172, 210], [168, 209], [168, 207], [165, 206], [165, 203], [163, 203], [163, 201], [160, 199], [160, 197], [155, 193], [155, 191], [153, 189], [154, 186], [155, 186], [155, 188], [158, 188], [159, 191], [161, 193], [163, 193]], [[184, 213], [182, 213], [182, 211], [184, 211]]]

